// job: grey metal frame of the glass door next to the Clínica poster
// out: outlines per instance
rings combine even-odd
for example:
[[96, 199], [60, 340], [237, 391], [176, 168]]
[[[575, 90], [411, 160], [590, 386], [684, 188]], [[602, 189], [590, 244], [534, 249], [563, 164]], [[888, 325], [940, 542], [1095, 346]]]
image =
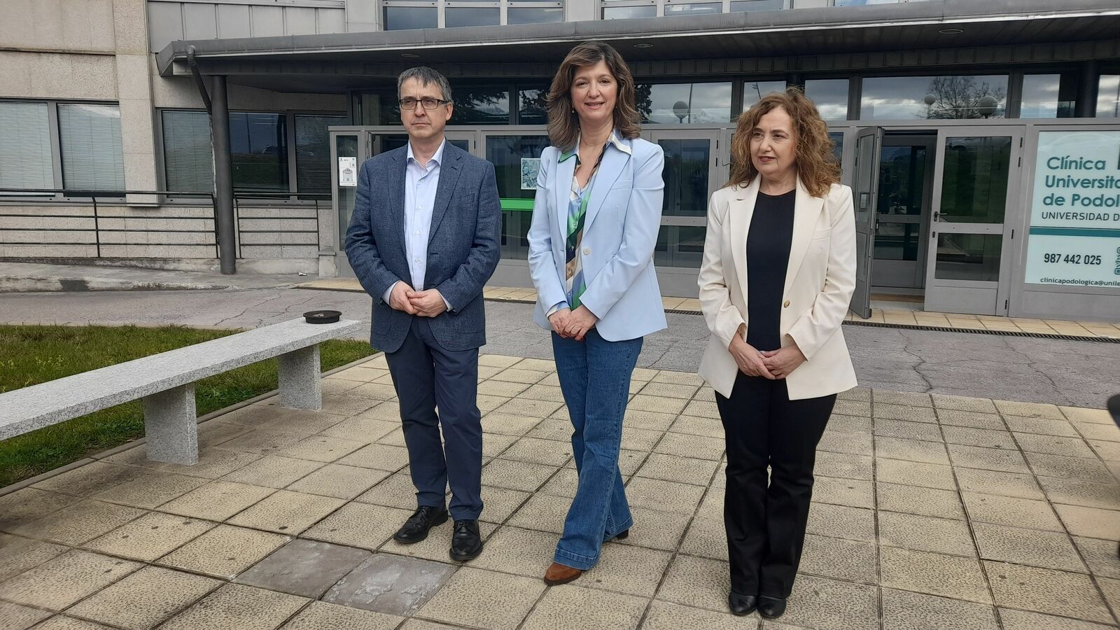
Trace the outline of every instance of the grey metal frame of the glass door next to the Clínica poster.
[[[1007, 315], [1011, 291], [1011, 269], [1017, 251], [1015, 226], [1020, 222], [1023, 206], [1023, 143], [1026, 126], [976, 126], [968, 128], [941, 127], [937, 129], [937, 150], [933, 179], [933, 214], [931, 215], [926, 252], [925, 309], [943, 313], [969, 313], [977, 315]], [[1011, 152], [1008, 158], [1007, 196], [1001, 223], [951, 223], [941, 220], [941, 195], [944, 185], [945, 143], [950, 138], [1010, 138]], [[1000, 234], [998, 280], [946, 280], [937, 279], [937, 235], [950, 234]], [[1021, 237], [1021, 232], [1019, 234]], [[980, 297], [978, 290], [995, 290], [992, 307], [969, 306], [965, 298]], [[954, 299], [955, 298], [955, 299]]]

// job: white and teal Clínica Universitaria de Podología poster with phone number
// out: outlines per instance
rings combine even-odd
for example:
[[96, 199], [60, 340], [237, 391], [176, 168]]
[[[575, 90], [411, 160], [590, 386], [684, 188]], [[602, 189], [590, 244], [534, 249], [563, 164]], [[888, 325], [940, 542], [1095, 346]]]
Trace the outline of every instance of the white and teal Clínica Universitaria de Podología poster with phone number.
[[1120, 287], [1120, 131], [1042, 131], [1026, 281]]

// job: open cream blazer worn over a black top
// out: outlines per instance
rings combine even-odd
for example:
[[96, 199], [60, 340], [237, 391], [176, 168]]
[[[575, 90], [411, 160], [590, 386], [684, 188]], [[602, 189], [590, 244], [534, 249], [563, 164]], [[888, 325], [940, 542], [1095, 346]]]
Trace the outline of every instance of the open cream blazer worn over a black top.
[[[747, 231], [759, 178], [728, 186], [708, 202], [708, 235], [700, 266], [700, 308], [711, 337], [700, 376], [730, 397], [739, 368], [728, 346], [747, 322]], [[808, 359], [786, 377], [791, 400], [856, 387], [856, 370], [840, 325], [856, 288], [856, 215], [851, 188], [833, 184], [823, 198], [797, 179], [793, 241], [782, 291], [782, 346], [796, 342]]]

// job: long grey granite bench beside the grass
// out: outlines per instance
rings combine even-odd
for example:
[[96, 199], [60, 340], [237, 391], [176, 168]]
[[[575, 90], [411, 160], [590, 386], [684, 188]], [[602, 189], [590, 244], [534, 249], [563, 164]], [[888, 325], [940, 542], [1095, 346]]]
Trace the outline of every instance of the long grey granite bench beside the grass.
[[276, 356], [280, 405], [320, 409], [319, 343], [364, 328], [348, 319], [291, 319], [0, 393], [0, 439], [142, 398], [148, 457], [192, 465], [198, 462], [195, 381]]

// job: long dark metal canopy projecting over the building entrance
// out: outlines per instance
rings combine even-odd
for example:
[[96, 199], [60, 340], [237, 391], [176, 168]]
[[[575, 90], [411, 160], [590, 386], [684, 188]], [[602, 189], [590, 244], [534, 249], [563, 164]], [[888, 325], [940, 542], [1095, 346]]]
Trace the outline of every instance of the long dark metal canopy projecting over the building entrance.
[[[942, 33], [946, 29], [962, 33]], [[572, 44], [586, 39], [609, 41], [633, 66], [669, 59], [718, 62], [805, 55], [827, 59], [839, 54], [890, 50], [1034, 47], [1094, 40], [1113, 44], [1117, 34], [1117, 0], [931, 0], [690, 17], [172, 41], [157, 55], [157, 64], [164, 76], [183, 74], [185, 64], [177, 62], [184, 62], [187, 47], [194, 46], [204, 74], [237, 76], [239, 83], [262, 86], [272, 83], [288, 91], [293, 87], [291, 80], [299, 75], [299, 91], [320, 91], [344, 89], [354, 83], [355, 76], [395, 76], [417, 64], [454, 66], [458, 76], [470, 76], [474, 67], [479, 77], [548, 77]], [[634, 44], [652, 46], [636, 48]], [[1116, 50], [1116, 46], [1107, 48]], [[410, 57], [403, 57], [404, 53]], [[1099, 56], [1099, 52], [1094, 53]], [[1008, 62], [1018, 59], [1005, 59]], [[931, 65], [940, 63], [934, 58]], [[495, 75], [502, 66], [507, 67]], [[829, 64], [823, 66], [821, 70], [827, 70]]]

